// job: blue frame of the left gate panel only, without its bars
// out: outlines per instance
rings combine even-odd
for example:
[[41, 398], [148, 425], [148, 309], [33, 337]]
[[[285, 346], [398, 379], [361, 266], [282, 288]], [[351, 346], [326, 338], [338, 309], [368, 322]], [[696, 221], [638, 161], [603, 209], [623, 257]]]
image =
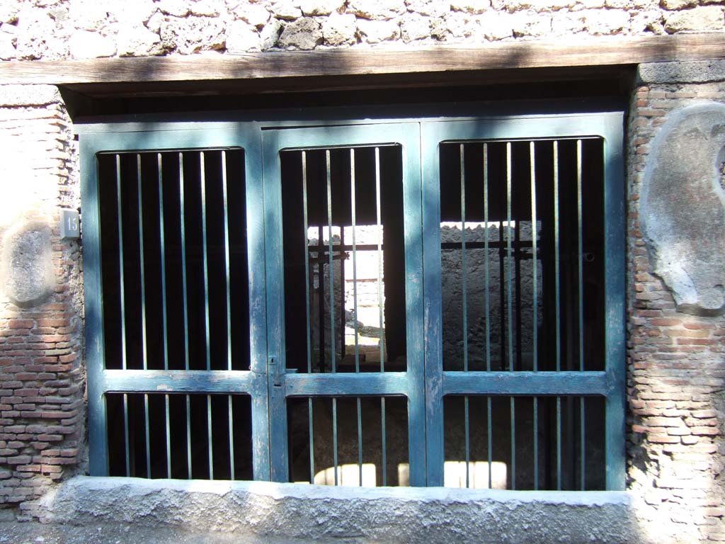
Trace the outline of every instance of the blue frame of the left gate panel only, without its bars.
[[[162, 152], [181, 149], [241, 147], [245, 155], [247, 202], [262, 201], [259, 128], [256, 123], [191, 123], [171, 130], [153, 125], [130, 125], [108, 133], [86, 128], [80, 138], [83, 172], [83, 282], [86, 293], [86, 364], [88, 368], [88, 442], [91, 476], [109, 471], [107, 393], [235, 393], [252, 399], [252, 466], [254, 479], [270, 479], [265, 344], [265, 270], [263, 260], [248, 260], [249, 371], [107, 370], [104, 368], [103, 302], [101, 293], [101, 232], [99, 172], [96, 154]], [[264, 255], [264, 217], [247, 214], [249, 255]], [[186, 331], [183, 331], [186, 334]]]

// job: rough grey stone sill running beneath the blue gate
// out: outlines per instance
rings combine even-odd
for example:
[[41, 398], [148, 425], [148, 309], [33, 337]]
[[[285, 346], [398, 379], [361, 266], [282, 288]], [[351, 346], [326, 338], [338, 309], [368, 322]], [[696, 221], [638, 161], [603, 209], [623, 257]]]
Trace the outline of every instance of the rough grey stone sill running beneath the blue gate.
[[626, 492], [322, 487], [75, 477], [28, 504], [45, 523], [281, 540], [637, 543]]

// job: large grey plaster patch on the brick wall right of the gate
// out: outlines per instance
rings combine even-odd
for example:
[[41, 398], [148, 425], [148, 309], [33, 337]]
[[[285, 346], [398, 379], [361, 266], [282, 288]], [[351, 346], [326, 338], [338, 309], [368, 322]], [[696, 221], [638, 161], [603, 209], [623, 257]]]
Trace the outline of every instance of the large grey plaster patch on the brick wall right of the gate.
[[674, 112], [653, 141], [640, 218], [655, 274], [677, 309], [725, 313], [725, 104]]

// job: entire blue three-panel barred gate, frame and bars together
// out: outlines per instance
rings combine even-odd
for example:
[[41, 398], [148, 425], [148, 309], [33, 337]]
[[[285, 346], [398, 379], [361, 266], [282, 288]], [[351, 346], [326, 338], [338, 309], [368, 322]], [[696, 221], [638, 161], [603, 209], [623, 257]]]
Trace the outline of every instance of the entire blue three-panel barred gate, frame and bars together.
[[624, 487], [621, 113], [81, 132], [91, 474]]

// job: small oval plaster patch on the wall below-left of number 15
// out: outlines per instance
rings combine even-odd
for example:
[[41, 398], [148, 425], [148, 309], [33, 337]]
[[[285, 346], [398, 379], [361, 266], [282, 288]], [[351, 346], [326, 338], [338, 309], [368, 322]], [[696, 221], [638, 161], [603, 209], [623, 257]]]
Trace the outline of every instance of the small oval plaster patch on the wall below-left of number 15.
[[7, 298], [20, 308], [41, 304], [53, 294], [55, 271], [51, 229], [43, 221], [22, 222], [5, 233], [0, 279]]

